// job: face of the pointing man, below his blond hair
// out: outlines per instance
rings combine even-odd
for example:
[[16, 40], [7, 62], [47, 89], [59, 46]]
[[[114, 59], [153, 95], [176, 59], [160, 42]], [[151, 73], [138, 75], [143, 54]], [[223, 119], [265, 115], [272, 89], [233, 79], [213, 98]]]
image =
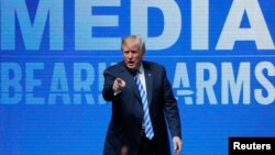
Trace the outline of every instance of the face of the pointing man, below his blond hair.
[[143, 57], [143, 52], [140, 46], [124, 45], [122, 46], [123, 59], [129, 69], [139, 69]]

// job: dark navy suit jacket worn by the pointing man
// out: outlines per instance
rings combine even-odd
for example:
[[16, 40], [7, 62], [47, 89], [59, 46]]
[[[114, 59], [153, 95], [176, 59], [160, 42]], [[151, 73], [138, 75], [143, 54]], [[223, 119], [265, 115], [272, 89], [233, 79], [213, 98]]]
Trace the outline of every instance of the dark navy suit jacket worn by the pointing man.
[[[157, 155], [170, 155], [166, 121], [170, 135], [182, 137], [177, 101], [162, 65], [143, 62], [143, 68]], [[127, 146], [129, 155], [135, 155], [141, 141], [143, 120], [142, 101], [136, 84], [123, 62], [107, 68], [103, 76], [102, 95], [106, 101], [112, 102], [112, 117], [103, 154], [119, 155], [121, 147]], [[125, 81], [125, 87], [117, 96], [112, 89], [116, 78]]]

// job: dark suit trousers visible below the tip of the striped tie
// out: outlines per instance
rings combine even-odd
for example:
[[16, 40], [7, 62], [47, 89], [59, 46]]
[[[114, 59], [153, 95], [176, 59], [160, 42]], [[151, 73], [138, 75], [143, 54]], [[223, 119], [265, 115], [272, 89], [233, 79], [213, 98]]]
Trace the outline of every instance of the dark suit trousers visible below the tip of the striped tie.
[[142, 130], [142, 133], [141, 133], [141, 144], [139, 147], [138, 155], [156, 155], [155, 140], [154, 137], [152, 140], [148, 140], [145, 136], [144, 129]]

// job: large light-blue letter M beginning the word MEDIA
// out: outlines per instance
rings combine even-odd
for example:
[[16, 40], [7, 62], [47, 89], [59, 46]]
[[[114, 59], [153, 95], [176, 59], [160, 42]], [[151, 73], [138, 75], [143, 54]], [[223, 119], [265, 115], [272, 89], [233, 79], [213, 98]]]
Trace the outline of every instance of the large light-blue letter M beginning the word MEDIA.
[[[33, 9], [33, 1], [26, 5], [25, 0], [0, 0], [1, 7], [1, 49], [15, 49], [16, 32], [21, 31], [26, 49], [38, 49], [45, 24], [50, 23], [50, 49], [63, 49], [63, 0], [40, 0]], [[36, 12], [29, 12], [36, 10]], [[30, 14], [34, 14], [33, 22]], [[18, 20], [18, 25], [15, 25]], [[20, 27], [20, 31], [15, 31]], [[46, 37], [45, 37], [46, 38]]]

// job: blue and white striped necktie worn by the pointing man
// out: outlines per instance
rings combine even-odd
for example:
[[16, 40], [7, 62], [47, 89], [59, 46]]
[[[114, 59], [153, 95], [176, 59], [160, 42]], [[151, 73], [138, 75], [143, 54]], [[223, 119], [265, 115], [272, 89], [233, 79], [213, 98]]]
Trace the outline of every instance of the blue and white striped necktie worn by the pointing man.
[[144, 128], [145, 128], [145, 136], [147, 139], [152, 140], [154, 136], [154, 131], [153, 131], [153, 126], [152, 126], [152, 122], [151, 122], [150, 113], [148, 113], [147, 96], [146, 96], [145, 90], [141, 84], [141, 79], [139, 78], [139, 71], [136, 71], [134, 75], [135, 75], [134, 81], [136, 82], [136, 85], [139, 87], [141, 99], [142, 99], [142, 104], [143, 104], [143, 111], [144, 111], [143, 123], [144, 123]]

